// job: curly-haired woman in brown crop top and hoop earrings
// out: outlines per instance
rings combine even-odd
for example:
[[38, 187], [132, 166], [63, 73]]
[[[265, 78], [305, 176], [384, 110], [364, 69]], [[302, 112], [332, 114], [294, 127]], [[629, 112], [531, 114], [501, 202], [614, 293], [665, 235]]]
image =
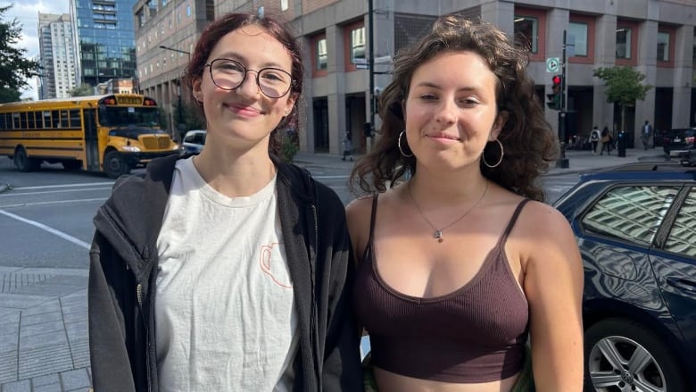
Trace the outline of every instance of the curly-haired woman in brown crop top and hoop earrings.
[[543, 203], [558, 151], [526, 64], [500, 29], [453, 15], [394, 59], [347, 206], [380, 392], [528, 390], [532, 369], [538, 391], [583, 388], [583, 267]]

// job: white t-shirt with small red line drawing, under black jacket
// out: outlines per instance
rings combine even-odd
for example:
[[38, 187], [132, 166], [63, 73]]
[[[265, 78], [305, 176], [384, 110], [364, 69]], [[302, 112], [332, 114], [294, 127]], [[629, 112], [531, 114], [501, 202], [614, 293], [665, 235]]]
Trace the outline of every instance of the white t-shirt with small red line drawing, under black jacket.
[[162, 390], [292, 390], [297, 315], [276, 179], [230, 198], [178, 161], [157, 250]]

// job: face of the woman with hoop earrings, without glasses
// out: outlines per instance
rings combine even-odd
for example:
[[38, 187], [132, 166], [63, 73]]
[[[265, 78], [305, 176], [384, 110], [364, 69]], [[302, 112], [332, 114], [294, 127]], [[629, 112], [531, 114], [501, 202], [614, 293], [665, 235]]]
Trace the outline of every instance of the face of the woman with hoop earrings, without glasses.
[[496, 121], [496, 80], [473, 52], [445, 52], [418, 67], [404, 104], [406, 137], [418, 164], [478, 167], [486, 142], [504, 123]]

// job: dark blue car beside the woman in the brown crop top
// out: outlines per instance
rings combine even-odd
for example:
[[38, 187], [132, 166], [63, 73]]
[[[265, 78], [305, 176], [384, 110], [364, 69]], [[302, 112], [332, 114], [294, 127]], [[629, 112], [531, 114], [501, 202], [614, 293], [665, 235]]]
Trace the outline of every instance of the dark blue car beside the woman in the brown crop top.
[[584, 263], [585, 391], [696, 390], [696, 170], [586, 173], [553, 205]]

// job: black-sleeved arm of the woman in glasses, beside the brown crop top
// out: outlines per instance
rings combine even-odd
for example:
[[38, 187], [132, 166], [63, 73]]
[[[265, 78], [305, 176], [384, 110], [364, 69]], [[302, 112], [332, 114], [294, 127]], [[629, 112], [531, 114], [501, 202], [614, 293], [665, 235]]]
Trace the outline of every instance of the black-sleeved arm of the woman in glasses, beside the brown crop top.
[[[340, 203], [340, 202], [339, 202]], [[352, 309], [354, 264], [345, 227], [343, 204], [338, 204], [331, 249], [327, 338], [322, 371], [323, 391], [362, 391], [360, 337]]]

